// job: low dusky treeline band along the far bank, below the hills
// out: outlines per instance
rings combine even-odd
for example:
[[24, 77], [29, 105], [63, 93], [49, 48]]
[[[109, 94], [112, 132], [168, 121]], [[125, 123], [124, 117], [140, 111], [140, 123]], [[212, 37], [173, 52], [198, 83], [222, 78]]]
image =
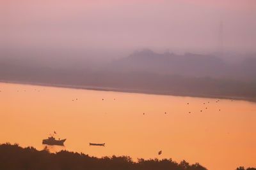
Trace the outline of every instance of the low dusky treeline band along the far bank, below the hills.
[[[145, 72], [119, 73], [109, 71], [54, 70], [15, 67], [1, 71], [0, 81], [111, 89], [121, 92], [166, 94], [193, 97], [224, 97], [256, 101], [256, 81], [195, 78]], [[11, 69], [11, 68], [9, 68]]]

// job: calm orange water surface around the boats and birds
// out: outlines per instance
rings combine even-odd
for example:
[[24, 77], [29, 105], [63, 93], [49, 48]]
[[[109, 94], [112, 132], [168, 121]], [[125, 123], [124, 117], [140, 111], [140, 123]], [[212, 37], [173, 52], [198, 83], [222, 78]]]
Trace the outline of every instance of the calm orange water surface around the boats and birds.
[[212, 170], [256, 166], [255, 103], [8, 83], [0, 90], [0, 143], [41, 150], [57, 131], [67, 138], [64, 149], [97, 157], [185, 159]]

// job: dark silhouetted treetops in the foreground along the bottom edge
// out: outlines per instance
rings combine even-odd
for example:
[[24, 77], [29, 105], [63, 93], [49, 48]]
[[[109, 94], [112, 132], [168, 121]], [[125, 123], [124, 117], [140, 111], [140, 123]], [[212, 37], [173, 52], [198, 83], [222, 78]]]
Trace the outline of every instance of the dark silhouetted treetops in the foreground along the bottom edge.
[[[6, 143], [0, 145], [0, 169], [5, 170], [115, 170], [115, 169], [135, 169], [135, 170], [207, 170], [200, 164], [189, 164], [185, 160], [180, 163], [172, 159], [138, 159], [133, 162], [131, 157], [90, 157], [84, 153], [74, 153], [61, 151], [50, 153], [47, 148], [38, 151], [33, 147], [21, 148], [19, 145]], [[244, 167], [238, 167], [236, 170], [245, 170]], [[256, 170], [248, 168], [246, 170]]]

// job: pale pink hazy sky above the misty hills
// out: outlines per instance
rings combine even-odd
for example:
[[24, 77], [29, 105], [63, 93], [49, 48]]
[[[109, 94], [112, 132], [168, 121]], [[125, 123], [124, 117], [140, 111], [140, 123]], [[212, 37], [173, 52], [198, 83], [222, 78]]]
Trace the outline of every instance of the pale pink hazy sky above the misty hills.
[[0, 0], [1, 46], [256, 49], [255, 0]]

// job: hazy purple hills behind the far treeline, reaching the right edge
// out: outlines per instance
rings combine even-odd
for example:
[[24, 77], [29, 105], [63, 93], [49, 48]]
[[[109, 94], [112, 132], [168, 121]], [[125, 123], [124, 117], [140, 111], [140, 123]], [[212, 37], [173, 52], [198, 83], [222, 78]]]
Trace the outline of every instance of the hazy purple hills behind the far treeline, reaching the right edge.
[[230, 78], [256, 80], [256, 55], [244, 57], [236, 64], [214, 55], [185, 53], [156, 53], [151, 50], [134, 52], [128, 57], [113, 60], [107, 67], [110, 71], [140, 71], [157, 74], [172, 74], [193, 77]]

